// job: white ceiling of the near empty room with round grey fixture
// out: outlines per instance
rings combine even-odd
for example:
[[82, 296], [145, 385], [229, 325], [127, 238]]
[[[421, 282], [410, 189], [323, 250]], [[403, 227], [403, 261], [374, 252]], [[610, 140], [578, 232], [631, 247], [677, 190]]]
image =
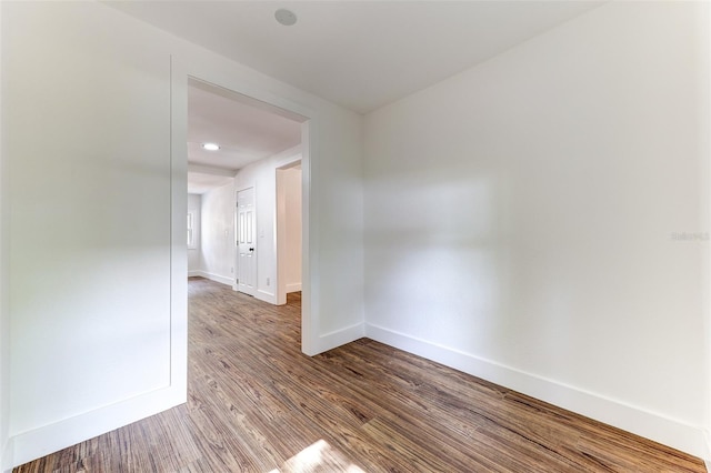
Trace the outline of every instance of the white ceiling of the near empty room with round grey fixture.
[[[358, 112], [427, 88], [600, 1], [109, 1]], [[278, 8], [298, 22], [274, 20]]]

